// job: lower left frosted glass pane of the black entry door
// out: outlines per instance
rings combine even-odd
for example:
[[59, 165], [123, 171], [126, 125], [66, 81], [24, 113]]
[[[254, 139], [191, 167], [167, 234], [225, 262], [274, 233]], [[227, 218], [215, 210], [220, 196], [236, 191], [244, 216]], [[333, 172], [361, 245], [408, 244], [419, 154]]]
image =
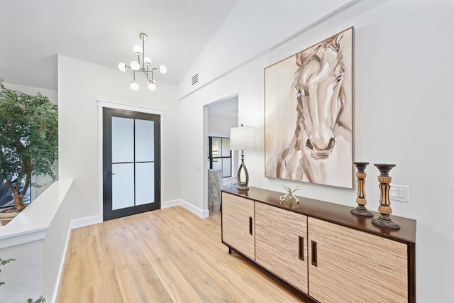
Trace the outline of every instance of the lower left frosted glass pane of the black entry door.
[[134, 206], [134, 164], [112, 164], [112, 210]]

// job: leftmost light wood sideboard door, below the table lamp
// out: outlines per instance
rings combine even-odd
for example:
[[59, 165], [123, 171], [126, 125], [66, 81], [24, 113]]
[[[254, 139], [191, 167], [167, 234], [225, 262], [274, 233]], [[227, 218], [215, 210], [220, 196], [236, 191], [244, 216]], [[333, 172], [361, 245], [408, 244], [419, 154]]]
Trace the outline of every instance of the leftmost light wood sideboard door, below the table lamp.
[[254, 202], [222, 193], [222, 241], [255, 260]]

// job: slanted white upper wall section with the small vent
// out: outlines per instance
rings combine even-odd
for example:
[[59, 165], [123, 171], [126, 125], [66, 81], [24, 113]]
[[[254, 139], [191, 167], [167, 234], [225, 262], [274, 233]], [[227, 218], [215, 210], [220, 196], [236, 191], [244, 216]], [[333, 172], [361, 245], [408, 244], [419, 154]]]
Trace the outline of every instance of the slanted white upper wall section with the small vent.
[[[301, 26], [325, 18], [356, 0], [239, 0], [179, 85], [182, 97], [209, 83], [263, 50], [277, 45]], [[311, 9], [306, 9], [310, 7]]]

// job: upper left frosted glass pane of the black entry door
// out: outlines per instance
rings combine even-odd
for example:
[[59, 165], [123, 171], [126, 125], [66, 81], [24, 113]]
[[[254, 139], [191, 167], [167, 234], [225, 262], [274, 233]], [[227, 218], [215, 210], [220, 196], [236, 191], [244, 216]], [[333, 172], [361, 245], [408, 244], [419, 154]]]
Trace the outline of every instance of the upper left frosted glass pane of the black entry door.
[[112, 117], [112, 162], [134, 161], [134, 119]]

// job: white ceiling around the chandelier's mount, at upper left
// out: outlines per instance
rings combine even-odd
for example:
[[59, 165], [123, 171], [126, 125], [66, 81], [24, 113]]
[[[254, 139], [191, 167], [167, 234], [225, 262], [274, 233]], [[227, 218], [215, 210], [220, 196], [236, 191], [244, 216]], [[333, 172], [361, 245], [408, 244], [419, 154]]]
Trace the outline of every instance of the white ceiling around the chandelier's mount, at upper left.
[[0, 0], [0, 78], [57, 89], [57, 54], [117, 69], [145, 55], [179, 84], [238, 0]]

